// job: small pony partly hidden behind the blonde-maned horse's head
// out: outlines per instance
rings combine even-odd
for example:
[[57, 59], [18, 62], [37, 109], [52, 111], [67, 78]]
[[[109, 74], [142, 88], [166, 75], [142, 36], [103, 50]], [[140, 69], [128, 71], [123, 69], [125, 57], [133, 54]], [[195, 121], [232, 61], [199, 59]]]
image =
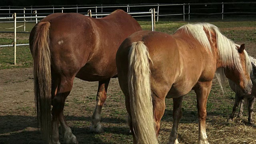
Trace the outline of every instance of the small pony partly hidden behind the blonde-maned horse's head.
[[233, 121], [234, 118], [234, 114], [239, 106], [240, 103], [240, 109], [238, 112], [238, 117], [241, 117], [243, 114], [243, 105], [244, 105], [244, 98], [246, 98], [246, 103], [248, 103], [248, 123], [249, 124], [254, 124], [254, 120], [252, 119], [252, 113], [253, 113], [253, 106], [254, 106], [254, 102], [256, 99], [256, 59], [249, 56], [250, 61], [252, 62], [252, 74], [250, 76], [251, 81], [252, 81], [252, 92], [251, 94], [244, 94], [243, 91], [241, 90], [241, 88], [239, 88], [239, 86], [237, 86], [234, 82], [232, 82], [231, 80], [228, 80], [228, 83], [230, 85], [230, 88], [236, 93], [235, 95], [235, 103], [233, 106], [233, 110], [232, 113], [230, 114], [230, 117], [228, 119], [228, 121]]

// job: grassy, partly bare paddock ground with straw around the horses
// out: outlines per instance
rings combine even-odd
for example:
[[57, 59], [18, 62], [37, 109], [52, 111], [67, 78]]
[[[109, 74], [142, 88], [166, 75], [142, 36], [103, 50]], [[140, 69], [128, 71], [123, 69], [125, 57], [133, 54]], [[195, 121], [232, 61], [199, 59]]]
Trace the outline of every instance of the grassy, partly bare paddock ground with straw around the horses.
[[[227, 19], [210, 20], [197, 19], [194, 22], [210, 22], [220, 28], [221, 32], [236, 42], [246, 44], [246, 50], [251, 56], [256, 56], [256, 21], [254, 19]], [[139, 21], [143, 30], [151, 29], [151, 22]], [[156, 31], [174, 33], [180, 26], [187, 24], [183, 21], [164, 20], [156, 22]], [[34, 24], [26, 24], [28, 31]], [[2, 24], [0, 27], [9, 28], [11, 24]], [[19, 29], [20, 31], [23, 28]], [[0, 29], [0, 31], [3, 31]], [[28, 34], [17, 34], [18, 44], [28, 43]], [[11, 44], [11, 34], [0, 34], [0, 45]], [[28, 46], [17, 47], [17, 65], [13, 65], [13, 48], [0, 48], [0, 143], [40, 143], [40, 134], [36, 129], [36, 114], [33, 104], [32, 57]], [[21, 68], [21, 69], [20, 69]], [[28, 72], [27, 72], [28, 71]], [[1, 75], [2, 74], [2, 75]], [[15, 78], [15, 76], [22, 78]], [[2, 77], [1, 77], [2, 76]], [[7, 78], [8, 77], [8, 78]], [[22, 87], [21, 87], [22, 86]], [[12, 89], [8, 89], [11, 87]], [[16, 88], [14, 88], [16, 87]], [[9, 93], [11, 91], [20, 91]], [[95, 106], [97, 82], [84, 82], [76, 79], [70, 96], [65, 103], [65, 115], [73, 133], [80, 144], [130, 144], [132, 136], [128, 133], [126, 124], [126, 110], [124, 96], [118, 86], [118, 81], [110, 82], [108, 98], [102, 109], [102, 134], [88, 132], [90, 116]], [[254, 144], [256, 143], [256, 126], [247, 124], [248, 112], [245, 108], [242, 118], [234, 118], [234, 122], [226, 122], [234, 104], [234, 92], [228, 85], [225, 93], [220, 90], [214, 79], [212, 90], [207, 103], [206, 132], [210, 144]], [[5, 103], [9, 97], [13, 101]], [[25, 100], [22, 100], [22, 98]], [[16, 99], [15, 99], [16, 98]], [[254, 108], [254, 111], [256, 109]], [[196, 95], [190, 92], [184, 96], [182, 102], [183, 117], [179, 124], [178, 140], [184, 144], [198, 142], [198, 120], [196, 109]], [[256, 120], [256, 116], [253, 117]], [[11, 125], [12, 124], [12, 125]], [[15, 126], [15, 128], [13, 128]], [[2, 128], [1, 128], [2, 127]], [[172, 99], [166, 99], [166, 109], [161, 120], [160, 144], [168, 142], [172, 128]], [[61, 140], [61, 139], [60, 139]]]

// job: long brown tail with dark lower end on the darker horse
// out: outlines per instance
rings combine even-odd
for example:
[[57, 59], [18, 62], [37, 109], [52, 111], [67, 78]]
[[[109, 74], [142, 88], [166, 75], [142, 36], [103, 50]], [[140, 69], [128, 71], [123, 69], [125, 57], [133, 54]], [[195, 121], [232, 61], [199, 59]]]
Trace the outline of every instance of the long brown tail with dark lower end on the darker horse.
[[51, 58], [49, 48], [50, 22], [36, 25], [32, 57], [34, 59], [34, 92], [38, 125], [45, 143], [51, 141]]

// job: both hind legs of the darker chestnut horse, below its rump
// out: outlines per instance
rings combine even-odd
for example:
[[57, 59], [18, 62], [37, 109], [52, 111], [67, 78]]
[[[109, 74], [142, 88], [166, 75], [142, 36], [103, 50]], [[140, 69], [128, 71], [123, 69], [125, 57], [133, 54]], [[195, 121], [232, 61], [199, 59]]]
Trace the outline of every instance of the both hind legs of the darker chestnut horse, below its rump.
[[61, 77], [60, 83], [58, 84], [57, 92], [52, 98], [52, 142], [54, 144], [60, 144], [59, 142], [59, 122], [62, 126], [62, 132], [64, 142], [69, 144], [78, 143], [76, 137], [72, 134], [71, 129], [66, 124], [63, 115], [64, 104], [67, 96], [73, 86], [73, 78]]

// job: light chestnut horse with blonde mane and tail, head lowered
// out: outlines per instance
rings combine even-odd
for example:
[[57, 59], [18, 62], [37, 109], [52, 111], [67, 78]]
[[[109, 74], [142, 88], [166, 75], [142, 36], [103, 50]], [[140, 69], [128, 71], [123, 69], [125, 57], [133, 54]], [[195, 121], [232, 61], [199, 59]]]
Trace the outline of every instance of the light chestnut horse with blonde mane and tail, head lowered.
[[173, 98], [174, 104], [168, 144], [177, 144], [182, 96], [191, 89], [196, 92], [199, 143], [208, 144], [206, 102], [214, 73], [219, 80], [226, 75], [244, 93], [252, 86], [244, 44], [236, 47], [212, 24], [186, 24], [173, 35], [135, 32], [119, 47], [116, 66], [135, 144], [158, 143], [165, 98]]

